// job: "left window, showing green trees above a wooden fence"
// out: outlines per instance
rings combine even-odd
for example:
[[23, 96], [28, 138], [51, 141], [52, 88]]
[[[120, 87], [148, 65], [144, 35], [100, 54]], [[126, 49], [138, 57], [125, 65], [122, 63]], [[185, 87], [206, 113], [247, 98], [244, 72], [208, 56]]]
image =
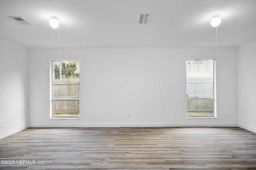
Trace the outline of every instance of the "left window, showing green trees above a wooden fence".
[[51, 61], [51, 118], [79, 118], [79, 61]]

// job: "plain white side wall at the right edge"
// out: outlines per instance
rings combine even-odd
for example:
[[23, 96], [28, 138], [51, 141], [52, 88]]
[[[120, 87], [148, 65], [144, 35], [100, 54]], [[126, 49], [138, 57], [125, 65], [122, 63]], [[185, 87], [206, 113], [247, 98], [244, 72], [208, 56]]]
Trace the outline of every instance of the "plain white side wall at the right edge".
[[256, 132], [256, 41], [238, 47], [238, 126]]

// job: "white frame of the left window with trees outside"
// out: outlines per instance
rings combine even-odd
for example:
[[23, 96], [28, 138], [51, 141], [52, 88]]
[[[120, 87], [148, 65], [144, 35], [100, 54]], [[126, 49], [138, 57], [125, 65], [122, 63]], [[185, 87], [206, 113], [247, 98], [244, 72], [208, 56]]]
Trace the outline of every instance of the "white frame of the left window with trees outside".
[[[61, 99], [52, 99], [52, 62], [53, 61], [80, 61], [79, 59], [52, 59], [50, 60], [50, 119], [80, 119], [80, 113], [79, 116], [66, 116], [66, 117], [54, 117], [52, 115], [52, 103], [53, 101], [72, 101], [77, 100], [80, 102], [80, 98], [61, 98]], [[80, 65], [80, 63], [79, 63]], [[80, 66], [79, 66], [80, 67]], [[80, 83], [79, 83], [80, 85]], [[80, 107], [80, 105], [79, 105]]]

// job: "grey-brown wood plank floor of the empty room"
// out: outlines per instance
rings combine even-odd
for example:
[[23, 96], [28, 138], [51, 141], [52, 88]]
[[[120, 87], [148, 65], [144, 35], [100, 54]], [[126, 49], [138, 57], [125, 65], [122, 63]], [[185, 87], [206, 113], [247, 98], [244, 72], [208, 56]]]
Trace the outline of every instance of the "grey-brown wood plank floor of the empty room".
[[0, 140], [0, 169], [256, 169], [256, 133], [232, 128], [27, 128]]

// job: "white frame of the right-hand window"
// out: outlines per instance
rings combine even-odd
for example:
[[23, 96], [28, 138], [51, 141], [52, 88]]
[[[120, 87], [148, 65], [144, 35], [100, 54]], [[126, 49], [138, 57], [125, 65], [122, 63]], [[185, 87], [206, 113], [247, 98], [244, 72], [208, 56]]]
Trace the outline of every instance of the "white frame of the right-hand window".
[[[187, 115], [186, 118], [217, 118], [217, 95], [216, 95], [216, 59], [186, 59], [187, 60], [213, 60], [213, 116], [205, 116], [205, 115]], [[187, 86], [187, 81], [186, 81]], [[187, 103], [187, 97], [186, 97], [186, 103]], [[187, 109], [187, 105], [186, 105]], [[186, 111], [187, 113], [187, 111]]]

